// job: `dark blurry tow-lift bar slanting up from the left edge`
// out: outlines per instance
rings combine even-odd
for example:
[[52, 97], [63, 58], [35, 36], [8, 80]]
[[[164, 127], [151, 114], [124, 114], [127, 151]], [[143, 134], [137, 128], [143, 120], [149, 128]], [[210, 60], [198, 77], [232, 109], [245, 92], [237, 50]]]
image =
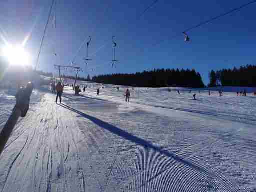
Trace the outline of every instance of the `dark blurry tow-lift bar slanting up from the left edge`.
[[4, 125], [0, 133], [0, 155], [7, 143], [10, 134], [18, 120], [18, 118], [25, 117], [29, 108], [30, 95], [33, 91], [33, 84], [28, 82], [26, 87], [20, 87], [16, 97], [16, 104], [12, 110], [10, 117], [8, 118], [6, 124]]

